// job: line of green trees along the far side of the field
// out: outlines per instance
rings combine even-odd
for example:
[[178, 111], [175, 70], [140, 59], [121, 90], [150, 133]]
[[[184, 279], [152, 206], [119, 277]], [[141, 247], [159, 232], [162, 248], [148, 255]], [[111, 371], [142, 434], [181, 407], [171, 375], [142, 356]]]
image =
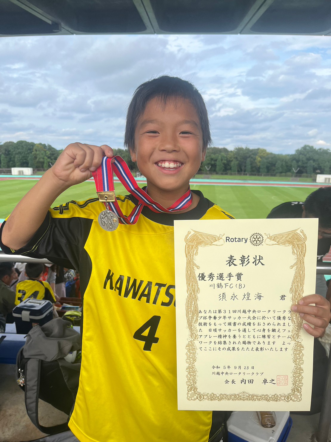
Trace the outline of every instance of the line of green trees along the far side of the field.
[[[47, 169], [55, 163], [61, 152], [62, 150], [57, 150], [49, 144], [6, 141], [0, 144], [0, 168]], [[114, 154], [120, 155], [127, 162], [130, 170], [137, 170], [128, 150], [114, 149]], [[248, 147], [235, 147], [233, 150], [226, 147], [211, 147], [207, 150], [206, 160], [201, 164], [199, 171], [201, 173], [241, 173], [247, 175], [330, 174], [330, 154], [330, 149], [316, 149], [311, 145], [304, 145], [293, 154], [288, 155]]]

